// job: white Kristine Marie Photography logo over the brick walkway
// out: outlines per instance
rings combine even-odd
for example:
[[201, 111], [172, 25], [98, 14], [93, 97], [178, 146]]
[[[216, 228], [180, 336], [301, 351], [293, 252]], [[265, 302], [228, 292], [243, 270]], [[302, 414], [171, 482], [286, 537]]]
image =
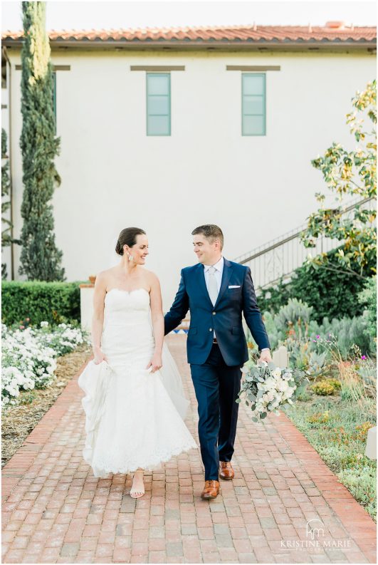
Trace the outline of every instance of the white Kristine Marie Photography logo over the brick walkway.
[[333, 539], [325, 537], [325, 527], [318, 518], [306, 522], [306, 539], [281, 539], [281, 549], [296, 549], [297, 551], [309, 551], [317, 549], [345, 551], [352, 549], [350, 539]]

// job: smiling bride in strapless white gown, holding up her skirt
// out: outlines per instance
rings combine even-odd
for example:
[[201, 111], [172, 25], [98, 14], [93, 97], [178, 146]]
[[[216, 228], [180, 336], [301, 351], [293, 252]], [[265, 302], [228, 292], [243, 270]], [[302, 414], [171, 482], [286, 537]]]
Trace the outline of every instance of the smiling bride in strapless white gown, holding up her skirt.
[[130, 496], [140, 498], [144, 470], [198, 446], [184, 424], [189, 401], [181, 377], [163, 346], [159, 279], [144, 268], [146, 233], [122, 229], [115, 251], [120, 263], [95, 281], [94, 359], [78, 381], [85, 391], [83, 457], [96, 477], [134, 472]]

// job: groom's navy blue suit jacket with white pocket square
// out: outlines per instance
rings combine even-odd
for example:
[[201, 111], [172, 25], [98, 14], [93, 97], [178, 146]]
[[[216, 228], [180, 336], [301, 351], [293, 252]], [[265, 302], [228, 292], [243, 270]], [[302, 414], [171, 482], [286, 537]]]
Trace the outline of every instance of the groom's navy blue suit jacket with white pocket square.
[[206, 288], [204, 265], [199, 263], [182, 269], [179, 290], [172, 308], [164, 316], [165, 335], [179, 325], [188, 310], [188, 363], [205, 363], [213, 344], [214, 330], [226, 365], [241, 366], [248, 361], [242, 314], [258, 348], [271, 347], [248, 266], [224, 259], [221, 289], [214, 306]]

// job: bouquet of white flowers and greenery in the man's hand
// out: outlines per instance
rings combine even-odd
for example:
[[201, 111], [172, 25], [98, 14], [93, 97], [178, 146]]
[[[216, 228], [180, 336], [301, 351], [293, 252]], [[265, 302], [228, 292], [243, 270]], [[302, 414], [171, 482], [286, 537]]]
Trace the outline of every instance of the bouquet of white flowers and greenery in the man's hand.
[[[292, 396], [295, 390], [300, 392], [305, 388], [305, 381], [310, 382], [304, 370], [276, 367], [273, 362], [253, 363], [248, 361], [241, 369], [244, 380], [236, 403], [241, 403], [242, 397], [247, 406], [251, 406], [252, 420], [263, 420], [268, 412], [279, 415], [278, 407], [286, 403], [293, 404]], [[306, 373], [310, 374], [309, 371]]]

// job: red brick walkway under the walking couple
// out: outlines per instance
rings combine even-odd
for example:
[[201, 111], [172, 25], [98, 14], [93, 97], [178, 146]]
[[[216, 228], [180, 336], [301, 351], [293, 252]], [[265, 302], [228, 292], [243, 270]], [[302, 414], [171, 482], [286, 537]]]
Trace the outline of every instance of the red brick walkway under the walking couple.
[[[185, 340], [168, 343], [198, 440]], [[216, 500], [200, 498], [192, 450], [149, 473], [135, 501], [130, 477], [95, 479], [83, 462], [82, 396], [76, 377], [4, 467], [3, 562], [376, 562], [374, 522], [284, 414], [255, 424], [241, 405], [236, 479]]]

